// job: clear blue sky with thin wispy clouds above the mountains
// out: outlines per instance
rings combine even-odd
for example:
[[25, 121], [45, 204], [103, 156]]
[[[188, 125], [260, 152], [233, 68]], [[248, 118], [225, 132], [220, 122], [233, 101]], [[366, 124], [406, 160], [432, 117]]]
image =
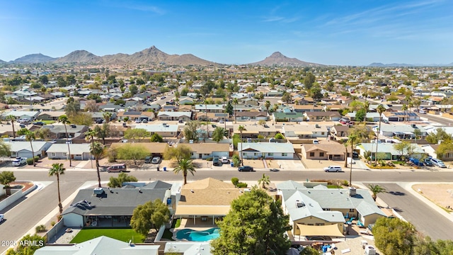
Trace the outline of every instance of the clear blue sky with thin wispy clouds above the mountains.
[[5, 61], [155, 45], [223, 64], [276, 51], [319, 64], [453, 62], [451, 0], [0, 1], [0, 23]]

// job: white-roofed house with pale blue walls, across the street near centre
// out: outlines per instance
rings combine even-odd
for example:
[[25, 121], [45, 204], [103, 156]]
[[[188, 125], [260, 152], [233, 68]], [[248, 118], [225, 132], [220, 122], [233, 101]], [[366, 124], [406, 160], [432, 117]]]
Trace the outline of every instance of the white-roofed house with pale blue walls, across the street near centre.
[[293, 159], [294, 157], [294, 147], [289, 142], [238, 142], [238, 152], [242, 153], [244, 159]]

